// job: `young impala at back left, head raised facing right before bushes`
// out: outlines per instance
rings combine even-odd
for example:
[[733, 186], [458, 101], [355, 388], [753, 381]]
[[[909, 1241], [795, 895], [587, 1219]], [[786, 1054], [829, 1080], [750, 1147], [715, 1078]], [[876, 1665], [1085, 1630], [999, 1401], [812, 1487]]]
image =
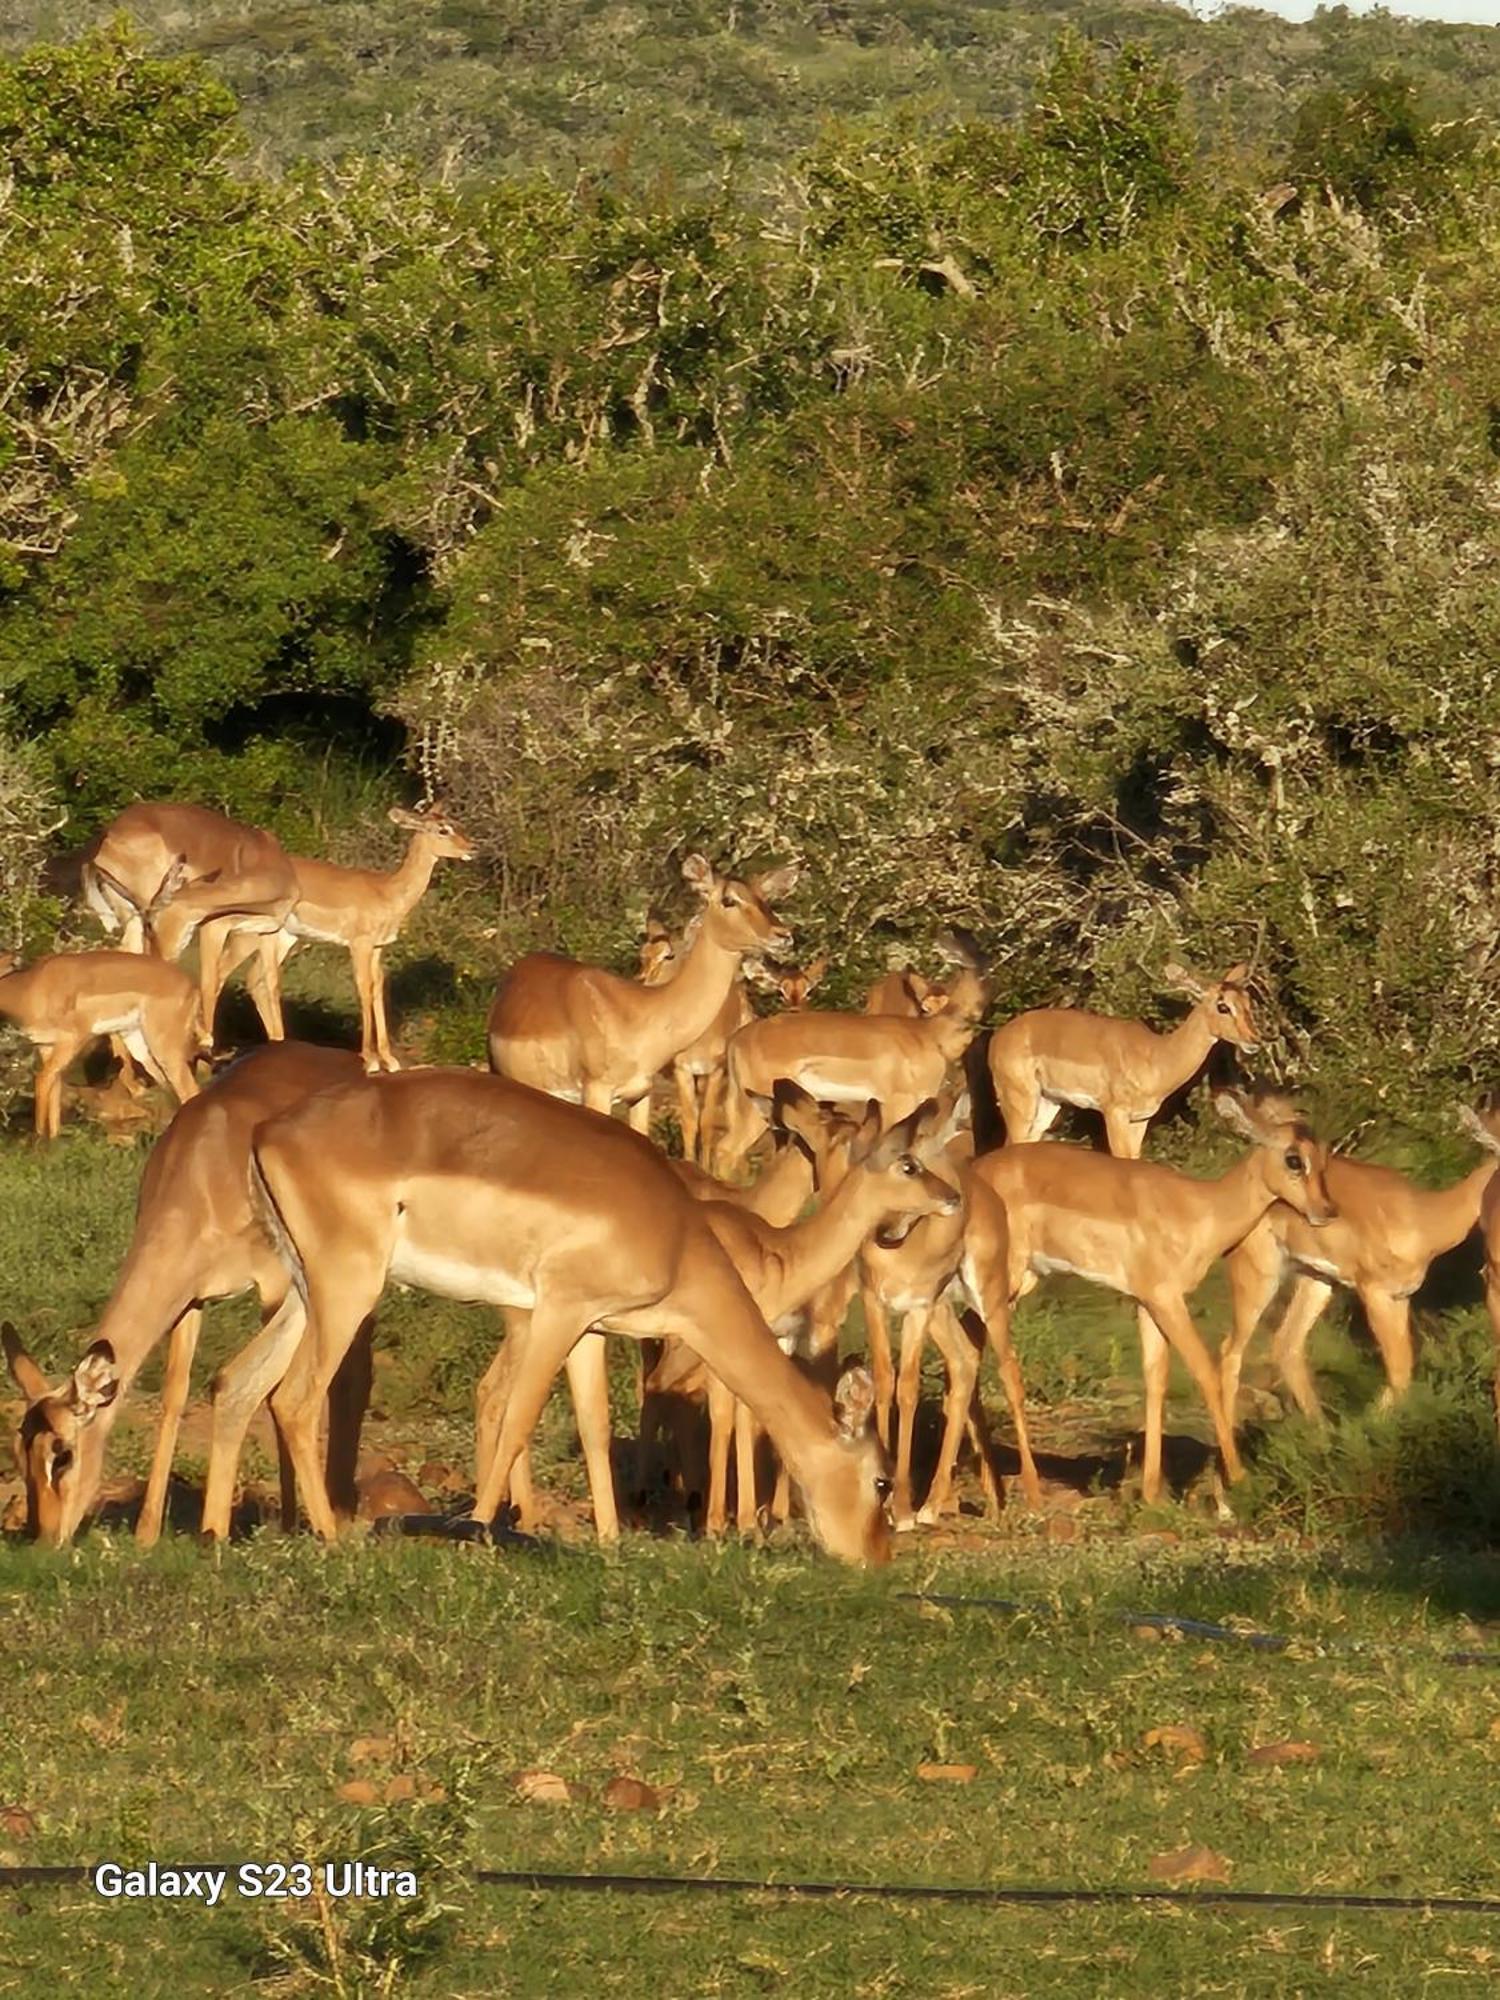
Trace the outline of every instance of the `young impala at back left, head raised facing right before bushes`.
[[[406, 920], [426, 896], [432, 870], [440, 860], [474, 860], [474, 844], [458, 832], [440, 804], [424, 812], [392, 806], [386, 818], [412, 836], [400, 868], [340, 868], [334, 862], [308, 860], [292, 854], [296, 902], [276, 932], [276, 964], [282, 966], [300, 944], [342, 944], [354, 968], [354, 988], [360, 996], [360, 1058], [366, 1072], [398, 1070], [390, 1052], [386, 1028], [386, 968], [384, 952], [402, 934]], [[232, 950], [230, 972], [256, 950], [256, 940], [244, 940]], [[250, 974], [252, 994], [264, 982], [262, 962]]]

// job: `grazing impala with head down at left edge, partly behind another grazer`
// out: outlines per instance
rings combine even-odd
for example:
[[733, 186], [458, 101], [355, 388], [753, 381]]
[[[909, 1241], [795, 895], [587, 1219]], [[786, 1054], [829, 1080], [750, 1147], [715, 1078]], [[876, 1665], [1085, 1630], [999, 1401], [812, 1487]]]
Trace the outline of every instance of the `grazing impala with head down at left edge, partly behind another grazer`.
[[[134, 954], [120, 956], [142, 964]], [[264, 1322], [286, 1298], [286, 1270], [250, 1208], [250, 1134], [262, 1118], [352, 1076], [358, 1060], [348, 1050], [272, 1042], [184, 1104], [146, 1162], [130, 1250], [98, 1336], [62, 1388], [50, 1388], [14, 1330], [0, 1328], [10, 1372], [30, 1400], [16, 1448], [32, 1534], [58, 1546], [78, 1532], [98, 1496], [114, 1418], [142, 1362], [170, 1334], [156, 1456], [136, 1522], [140, 1542], [156, 1540], [202, 1306], [258, 1290]], [[356, 1408], [336, 1416], [330, 1466], [352, 1512], [354, 1440], [364, 1410], [358, 1384], [350, 1386]], [[228, 1532], [228, 1520], [220, 1532]]]

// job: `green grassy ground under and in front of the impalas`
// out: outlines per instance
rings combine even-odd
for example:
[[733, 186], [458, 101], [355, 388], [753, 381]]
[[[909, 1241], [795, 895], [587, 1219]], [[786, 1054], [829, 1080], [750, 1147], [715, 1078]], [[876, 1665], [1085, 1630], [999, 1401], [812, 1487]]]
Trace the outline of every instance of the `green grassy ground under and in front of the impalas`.
[[[316, 984], [338, 968], [306, 978], [300, 1004], [338, 1024], [334, 986]], [[146, 1144], [80, 1118], [46, 1154], [0, 1142], [4, 1314], [48, 1366], [108, 1294]], [[50, 1556], [10, 1538], [0, 1808], [16, 1810], [0, 1810], [0, 1864], [404, 1858], [422, 1896], [318, 1908], [230, 1892], [200, 1910], [0, 1890], [0, 1994], [1478, 1990], [1500, 1942], [1472, 1916], [630, 1898], [470, 1874], [1146, 1888], [1154, 1856], [1202, 1844], [1234, 1890], [1494, 1892], [1500, 1670], [1444, 1660], [1500, 1656], [1474, 1264], [1456, 1256], [1424, 1296], [1420, 1386], [1398, 1418], [1368, 1414], [1378, 1370], [1342, 1308], [1314, 1340], [1326, 1434], [1280, 1418], [1264, 1360], [1250, 1366], [1252, 1478], [1232, 1524], [1196, 1478], [1206, 1426], [1176, 1378], [1182, 1498], [1140, 1506], [1132, 1314], [1062, 1288], [1018, 1316], [1046, 1512], [984, 1522], [968, 1472], [964, 1514], [900, 1538], [878, 1576], [822, 1560], [800, 1530], [758, 1550], [632, 1534], [600, 1554], [560, 1398], [538, 1442], [558, 1534], [536, 1554], [276, 1532], [216, 1554], [172, 1534], [140, 1554], [116, 1528]], [[1202, 1320], [1224, 1328], [1220, 1286]], [[204, 1382], [250, 1322], [246, 1306], [210, 1312]], [[440, 1300], [398, 1294], [382, 1316], [370, 1446], [434, 1502], [442, 1468], [468, 1464], [492, 1338], [490, 1314]], [[114, 1472], [144, 1468], [154, 1390], [148, 1368]], [[930, 1370], [926, 1450], [936, 1390]], [[992, 1380], [986, 1394], [1004, 1436]], [[622, 1468], [632, 1398], [620, 1356]], [[196, 1420], [180, 1528], [202, 1448]], [[264, 1432], [246, 1474], [270, 1474]], [[1162, 1636], [1130, 1616], [1160, 1612], [1290, 1644]], [[1316, 1756], [1252, 1758], [1284, 1740]], [[928, 1764], [974, 1770], [924, 1778]], [[574, 1794], [528, 1800], [520, 1772]], [[644, 1810], [604, 1804], [622, 1774], [656, 1794]]]

